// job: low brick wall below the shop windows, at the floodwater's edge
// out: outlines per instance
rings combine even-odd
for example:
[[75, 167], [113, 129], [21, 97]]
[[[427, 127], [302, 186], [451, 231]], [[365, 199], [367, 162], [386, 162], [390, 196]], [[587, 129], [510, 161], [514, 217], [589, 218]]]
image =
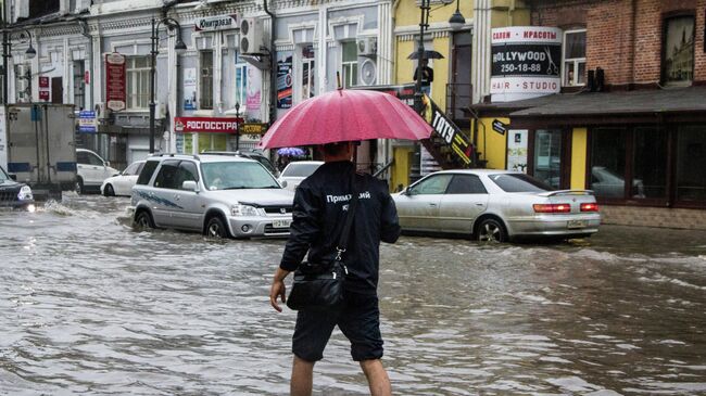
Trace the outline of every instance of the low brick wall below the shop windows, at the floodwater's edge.
[[706, 210], [602, 205], [605, 225], [706, 230]]

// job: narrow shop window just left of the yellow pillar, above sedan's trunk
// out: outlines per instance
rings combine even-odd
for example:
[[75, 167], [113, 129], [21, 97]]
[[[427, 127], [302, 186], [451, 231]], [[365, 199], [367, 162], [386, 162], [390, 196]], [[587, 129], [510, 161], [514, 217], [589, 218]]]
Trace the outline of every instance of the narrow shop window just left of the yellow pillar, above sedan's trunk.
[[562, 130], [538, 129], [534, 133], [533, 176], [555, 189], [562, 187]]

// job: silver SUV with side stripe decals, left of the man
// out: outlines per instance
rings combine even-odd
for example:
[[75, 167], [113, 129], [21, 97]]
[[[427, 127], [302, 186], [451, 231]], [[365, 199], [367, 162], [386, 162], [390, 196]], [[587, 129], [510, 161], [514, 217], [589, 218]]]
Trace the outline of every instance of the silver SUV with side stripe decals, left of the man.
[[159, 154], [133, 188], [138, 228], [173, 228], [210, 237], [286, 237], [294, 194], [254, 159]]

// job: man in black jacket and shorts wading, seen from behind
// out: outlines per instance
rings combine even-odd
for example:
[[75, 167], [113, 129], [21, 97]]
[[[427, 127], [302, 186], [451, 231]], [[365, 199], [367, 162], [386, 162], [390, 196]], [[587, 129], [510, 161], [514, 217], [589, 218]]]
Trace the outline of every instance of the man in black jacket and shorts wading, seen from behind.
[[348, 277], [342, 305], [332, 311], [298, 311], [291, 395], [312, 394], [314, 365], [323, 359], [336, 325], [351, 342], [351, 356], [360, 362], [370, 394], [390, 395], [390, 379], [380, 360], [383, 349], [377, 285], [380, 241], [394, 243], [400, 237], [396, 208], [387, 183], [355, 173], [352, 142], [325, 144], [322, 151], [325, 164], [302, 181], [294, 195], [290, 237], [269, 291], [269, 302], [277, 311], [281, 311], [278, 298], [286, 303], [285, 279], [307, 252], [310, 263], [333, 259], [333, 246], [343, 232], [354, 191], [358, 201], [343, 257]]

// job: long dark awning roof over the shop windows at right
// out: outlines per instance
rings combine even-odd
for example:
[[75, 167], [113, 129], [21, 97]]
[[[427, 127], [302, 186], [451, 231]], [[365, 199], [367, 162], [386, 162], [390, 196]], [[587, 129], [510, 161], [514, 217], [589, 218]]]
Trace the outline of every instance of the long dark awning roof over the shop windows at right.
[[474, 111], [505, 113], [514, 128], [631, 123], [706, 122], [706, 87], [559, 93], [522, 101], [478, 104]]

